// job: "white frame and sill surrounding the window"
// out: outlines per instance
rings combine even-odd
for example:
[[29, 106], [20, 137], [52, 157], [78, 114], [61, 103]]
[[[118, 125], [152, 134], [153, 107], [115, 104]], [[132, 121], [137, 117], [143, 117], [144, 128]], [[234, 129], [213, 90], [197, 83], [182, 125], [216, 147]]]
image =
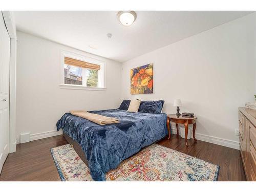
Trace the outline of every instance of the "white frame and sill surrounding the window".
[[[88, 57], [85, 55], [72, 53], [72, 52], [69, 52], [66, 50], [61, 50], [60, 55], [61, 55], [60, 56], [60, 84], [59, 84], [60, 89], [106, 91], [106, 86], [105, 86], [105, 82], [106, 82], [105, 74], [106, 73], [105, 73], [105, 62], [104, 61], [98, 60], [98, 59], [95, 59], [92, 57]], [[79, 84], [65, 84], [65, 74], [64, 74], [65, 57], [71, 57], [74, 59], [78, 59], [78, 60], [82, 60], [82, 61], [100, 65], [100, 70], [98, 72], [98, 86], [99, 87], [87, 87], [87, 86], [79, 85]], [[84, 70], [82, 70], [82, 71], [84, 72]]]

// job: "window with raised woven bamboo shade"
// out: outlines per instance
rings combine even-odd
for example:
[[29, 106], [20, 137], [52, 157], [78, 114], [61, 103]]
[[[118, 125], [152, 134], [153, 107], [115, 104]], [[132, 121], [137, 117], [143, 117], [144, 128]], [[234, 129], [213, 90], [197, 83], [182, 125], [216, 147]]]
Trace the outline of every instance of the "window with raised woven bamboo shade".
[[[104, 88], [104, 63], [80, 55], [62, 54], [63, 89]], [[80, 89], [78, 88], [78, 89]], [[95, 90], [95, 89], [94, 89]]]

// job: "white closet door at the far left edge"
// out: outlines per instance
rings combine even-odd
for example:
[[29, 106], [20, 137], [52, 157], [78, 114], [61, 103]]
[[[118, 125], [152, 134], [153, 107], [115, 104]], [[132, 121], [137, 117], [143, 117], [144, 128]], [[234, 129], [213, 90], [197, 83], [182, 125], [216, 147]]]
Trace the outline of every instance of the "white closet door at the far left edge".
[[10, 37], [0, 11], [0, 174], [9, 154]]

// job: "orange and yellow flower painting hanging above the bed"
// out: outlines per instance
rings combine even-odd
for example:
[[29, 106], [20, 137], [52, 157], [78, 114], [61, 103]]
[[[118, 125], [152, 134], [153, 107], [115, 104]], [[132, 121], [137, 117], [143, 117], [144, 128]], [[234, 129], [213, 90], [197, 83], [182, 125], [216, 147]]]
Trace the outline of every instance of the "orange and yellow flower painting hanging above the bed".
[[153, 64], [131, 69], [131, 94], [153, 93]]

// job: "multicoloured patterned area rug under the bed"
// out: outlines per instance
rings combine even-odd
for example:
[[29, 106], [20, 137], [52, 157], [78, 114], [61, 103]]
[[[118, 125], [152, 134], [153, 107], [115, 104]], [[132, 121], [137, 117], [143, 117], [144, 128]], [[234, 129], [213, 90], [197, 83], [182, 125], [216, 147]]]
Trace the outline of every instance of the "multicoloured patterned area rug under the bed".
[[[93, 181], [70, 144], [51, 148], [62, 181]], [[106, 181], [217, 181], [219, 165], [152, 144], [106, 174]]]

